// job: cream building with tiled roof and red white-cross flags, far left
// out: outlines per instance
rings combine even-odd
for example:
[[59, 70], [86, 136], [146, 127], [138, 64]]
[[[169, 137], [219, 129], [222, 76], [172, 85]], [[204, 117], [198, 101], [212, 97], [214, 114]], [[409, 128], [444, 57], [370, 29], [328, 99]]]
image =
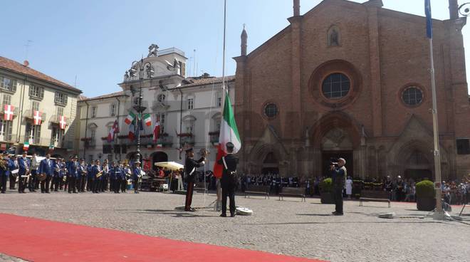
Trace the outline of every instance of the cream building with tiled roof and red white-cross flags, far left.
[[66, 157], [75, 148], [75, 115], [81, 90], [0, 57], [0, 150], [29, 145], [29, 152]]

